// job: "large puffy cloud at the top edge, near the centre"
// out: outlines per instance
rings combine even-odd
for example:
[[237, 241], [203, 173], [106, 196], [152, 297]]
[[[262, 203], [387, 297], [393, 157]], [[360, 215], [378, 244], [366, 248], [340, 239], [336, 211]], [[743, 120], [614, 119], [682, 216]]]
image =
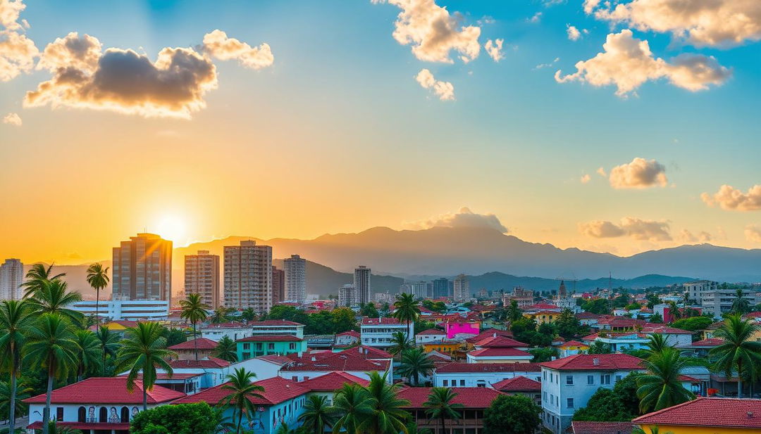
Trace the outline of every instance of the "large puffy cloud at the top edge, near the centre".
[[459, 14], [451, 15], [434, 0], [371, 0], [395, 5], [402, 11], [396, 17], [393, 38], [402, 45], [411, 45], [412, 54], [425, 62], [454, 63], [450, 52], [460, 53], [467, 63], [476, 59], [481, 45], [481, 27], [460, 26]]

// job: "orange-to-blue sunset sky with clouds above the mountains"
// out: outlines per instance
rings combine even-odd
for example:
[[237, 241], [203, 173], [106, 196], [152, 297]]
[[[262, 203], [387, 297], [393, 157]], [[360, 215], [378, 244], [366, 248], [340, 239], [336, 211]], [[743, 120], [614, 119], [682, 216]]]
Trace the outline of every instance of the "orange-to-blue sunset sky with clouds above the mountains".
[[756, 0], [0, 0], [0, 257], [458, 225], [759, 248], [759, 40]]

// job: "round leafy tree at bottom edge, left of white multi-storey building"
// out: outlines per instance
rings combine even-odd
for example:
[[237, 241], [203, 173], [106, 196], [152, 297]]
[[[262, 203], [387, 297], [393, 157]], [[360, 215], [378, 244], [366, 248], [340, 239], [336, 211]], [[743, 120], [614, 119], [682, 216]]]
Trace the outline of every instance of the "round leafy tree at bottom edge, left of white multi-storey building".
[[522, 394], [500, 395], [483, 414], [484, 434], [533, 434], [542, 409]]

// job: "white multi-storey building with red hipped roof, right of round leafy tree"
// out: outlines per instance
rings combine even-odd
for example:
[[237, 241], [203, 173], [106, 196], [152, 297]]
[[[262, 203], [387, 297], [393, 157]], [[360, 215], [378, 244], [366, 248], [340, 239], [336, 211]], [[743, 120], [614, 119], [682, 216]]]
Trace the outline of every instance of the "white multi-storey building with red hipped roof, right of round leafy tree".
[[542, 366], [543, 425], [561, 434], [573, 413], [586, 407], [598, 388], [613, 388], [630, 372], [644, 372], [642, 360], [629, 354], [578, 354]]

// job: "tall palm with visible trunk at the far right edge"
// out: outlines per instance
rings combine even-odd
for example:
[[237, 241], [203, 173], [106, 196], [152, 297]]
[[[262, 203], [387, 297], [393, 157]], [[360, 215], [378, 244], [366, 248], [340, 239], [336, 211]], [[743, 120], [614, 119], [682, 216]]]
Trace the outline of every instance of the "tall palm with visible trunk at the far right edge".
[[723, 339], [724, 343], [713, 348], [709, 354], [716, 356], [715, 369], [724, 372], [728, 379], [737, 372], [737, 398], [743, 394], [743, 375], [756, 378], [759, 372], [756, 366], [761, 363], [761, 342], [753, 341], [753, 335], [759, 331], [759, 325], [740, 314], [729, 315], [713, 334]]

